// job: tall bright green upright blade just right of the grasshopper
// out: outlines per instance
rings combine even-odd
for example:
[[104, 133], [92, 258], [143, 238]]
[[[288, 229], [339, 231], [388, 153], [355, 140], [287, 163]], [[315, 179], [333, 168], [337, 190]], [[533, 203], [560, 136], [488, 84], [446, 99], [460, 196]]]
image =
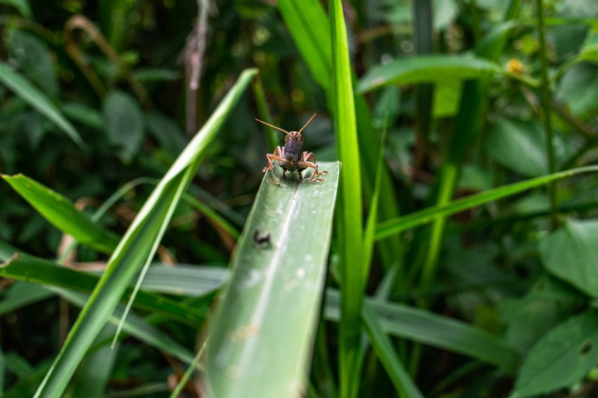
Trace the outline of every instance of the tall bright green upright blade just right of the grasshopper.
[[360, 370], [360, 313], [365, 287], [363, 273], [362, 181], [357, 143], [355, 99], [347, 28], [341, 0], [329, 3], [332, 39], [332, 99], [336, 153], [343, 163], [338, 203], [338, 246], [341, 265], [341, 327], [339, 330], [339, 371], [341, 397], [357, 397]]

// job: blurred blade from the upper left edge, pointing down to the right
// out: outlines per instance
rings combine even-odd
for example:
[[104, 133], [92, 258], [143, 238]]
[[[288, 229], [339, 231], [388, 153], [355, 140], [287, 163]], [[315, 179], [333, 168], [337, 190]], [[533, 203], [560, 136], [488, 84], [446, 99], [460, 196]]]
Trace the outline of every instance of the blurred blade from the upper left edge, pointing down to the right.
[[54, 124], [61, 128], [79, 148], [85, 149], [87, 147], [77, 130], [70, 124], [63, 114], [58, 111], [58, 108], [52, 104], [50, 99], [43, 92], [39, 91], [34, 85], [32, 85], [25, 77], [15, 72], [11, 67], [7, 66], [6, 63], [0, 62], [0, 82], [6, 87], [11, 89], [15, 94], [23, 99], [34, 108], [42, 113], [46, 118], [52, 120]]

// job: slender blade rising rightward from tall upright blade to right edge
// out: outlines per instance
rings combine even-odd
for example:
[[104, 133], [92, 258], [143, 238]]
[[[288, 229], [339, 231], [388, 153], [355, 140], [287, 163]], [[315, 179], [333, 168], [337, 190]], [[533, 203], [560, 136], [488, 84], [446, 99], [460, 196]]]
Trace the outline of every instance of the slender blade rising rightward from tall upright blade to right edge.
[[383, 237], [396, 234], [397, 232], [431, 223], [438, 216], [451, 216], [452, 214], [480, 206], [481, 204], [485, 204], [490, 201], [510, 197], [528, 189], [547, 185], [556, 180], [568, 178], [580, 173], [595, 173], [597, 171], [598, 166], [573, 168], [571, 170], [561, 171], [560, 173], [543, 175], [542, 177], [515, 182], [514, 184], [504, 185], [503, 187], [488, 189], [487, 191], [480, 192], [479, 194], [473, 194], [469, 197], [448, 202], [447, 204], [433, 206], [421, 211], [415, 211], [414, 213], [407, 214], [407, 216], [402, 216], [395, 218], [394, 220], [388, 220], [384, 223], [378, 224], [378, 227], [376, 228], [376, 239], [382, 239]]

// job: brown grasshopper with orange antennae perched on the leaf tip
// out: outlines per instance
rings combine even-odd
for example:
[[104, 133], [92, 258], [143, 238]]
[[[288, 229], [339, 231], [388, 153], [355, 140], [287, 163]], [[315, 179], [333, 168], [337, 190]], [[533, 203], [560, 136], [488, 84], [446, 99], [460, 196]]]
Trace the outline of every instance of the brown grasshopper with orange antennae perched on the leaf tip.
[[[299, 180], [301, 180], [303, 179], [303, 170], [311, 167], [314, 169], [314, 173], [312, 173], [312, 176], [310, 177], [310, 182], [324, 182], [322, 178], [314, 177], [317, 175], [326, 174], [328, 173], [328, 170], [323, 170], [321, 172], [318, 171], [318, 165], [316, 163], [316, 158], [314, 158], [314, 154], [312, 152], [303, 151], [303, 135], [301, 135], [301, 132], [315, 117], [316, 113], [314, 113], [314, 116], [312, 116], [310, 120], [307, 120], [307, 123], [305, 123], [301, 130], [291, 132], [282, 130], [281, 128], [277, 128], [276, 126], [270, 125], [266, 122], [262, 122], [262, 120], [255, 119], [260, 123], [264, 123], [265, 125], [275, 128], [276, 130], [286, 134], [286, 137], [284, 137], [284, 147], [276, 147], [272, 154], [266, 154], [268, 166], [262, 170], [262, 173], [266, 173], [267, 170], [274, 170], [274, 164], [272, 162], [277, 161], [283, 170], [283, 178], [286, 177], [287, 171], [290, 171], [291, 173], [296, 171], [299, 174]], [[278, 182], [278, 178], [276, 180]]]

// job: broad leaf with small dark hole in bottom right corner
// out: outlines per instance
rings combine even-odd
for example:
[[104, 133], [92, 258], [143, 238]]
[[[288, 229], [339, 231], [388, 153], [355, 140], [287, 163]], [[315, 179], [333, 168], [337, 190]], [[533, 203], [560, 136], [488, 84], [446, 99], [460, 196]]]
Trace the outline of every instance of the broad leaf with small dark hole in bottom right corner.
[[573, 316], [530, 350], [511, 397], [534, 397], [579, 383], [596, 366], [597, 359], [598, 313]]

